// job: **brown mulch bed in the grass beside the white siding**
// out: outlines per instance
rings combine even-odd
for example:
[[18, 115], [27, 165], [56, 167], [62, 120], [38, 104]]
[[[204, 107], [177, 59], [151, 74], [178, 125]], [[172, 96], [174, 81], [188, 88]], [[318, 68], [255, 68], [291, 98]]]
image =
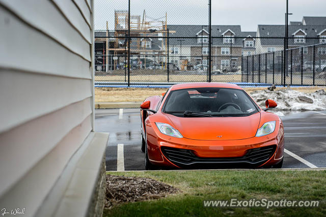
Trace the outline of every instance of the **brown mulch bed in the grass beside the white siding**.
[[127, 202], [166, 197], [178, 189], [151, 178], [106, 175], [105, 208]]

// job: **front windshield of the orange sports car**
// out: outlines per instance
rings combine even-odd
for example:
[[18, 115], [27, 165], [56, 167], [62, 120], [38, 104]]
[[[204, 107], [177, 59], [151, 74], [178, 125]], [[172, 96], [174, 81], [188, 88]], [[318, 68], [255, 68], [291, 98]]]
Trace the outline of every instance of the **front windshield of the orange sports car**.
[[163, 111], [182, 117], [249, 116], [258, 112], [244, 90], [218, 87], [173, 90]]

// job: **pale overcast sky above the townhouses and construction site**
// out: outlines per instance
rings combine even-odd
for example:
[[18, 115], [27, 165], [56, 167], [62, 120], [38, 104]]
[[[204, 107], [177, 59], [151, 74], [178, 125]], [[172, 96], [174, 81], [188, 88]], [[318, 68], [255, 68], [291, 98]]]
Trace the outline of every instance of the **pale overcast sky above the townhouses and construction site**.
[[[208, 24], [208, 0], [130, 0], [131, 15], [161, 18], [168, 24]], [[95, 29], [114, 29], [114, 11], [128, 10], [128, 0], [95, 0]], [[289, 21], [303, 16], [326, 16], [326, 0], [289, 0]], [[257, 24], [284, 24], [286, 0], [212, 0], [212, 25], [241, 25], [256, 31]]]

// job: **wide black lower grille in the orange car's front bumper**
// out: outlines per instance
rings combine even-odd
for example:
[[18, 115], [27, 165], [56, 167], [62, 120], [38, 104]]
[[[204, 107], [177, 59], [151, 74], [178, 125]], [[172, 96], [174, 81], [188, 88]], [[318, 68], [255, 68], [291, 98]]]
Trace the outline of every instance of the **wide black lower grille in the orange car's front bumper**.
[[201, 158], [194, 154], [193, 150], [172, 148], [162, 146], [161, 151], [164, 156], [180, 167], [187, 166], [203, 166], [203, 165], [220, 165], [223, 167], [235, 166], [236, 167], [257, 167], [273, 156], [276, 150], [276, 145], [265, 146], [261, 148], [252, 148], [247, 151], [242, 157], [233, 158]]

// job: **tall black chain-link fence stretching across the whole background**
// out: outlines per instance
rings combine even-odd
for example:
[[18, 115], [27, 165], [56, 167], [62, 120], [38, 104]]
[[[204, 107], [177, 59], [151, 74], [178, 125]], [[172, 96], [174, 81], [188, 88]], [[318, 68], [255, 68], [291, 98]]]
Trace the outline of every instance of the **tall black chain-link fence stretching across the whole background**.
[[289, 25], [289, 33], [301, 31], [288, 39], [293, 49], [284, 56], [284, 25], [258, 25], [258, 32], [211, 25], [209, 0], [121, 0], [117, 8], [110, 7], [112, 2], [95, 2], [95, 27], [100, 29], [95, 31], [96, 84], [324, 84], [318, 77], [324, 76], [322, 46], [314, 46], [315, 59], [311, 47], [294, 47], [319, 44], [324, 36], [317, 34], [326, 26]]

